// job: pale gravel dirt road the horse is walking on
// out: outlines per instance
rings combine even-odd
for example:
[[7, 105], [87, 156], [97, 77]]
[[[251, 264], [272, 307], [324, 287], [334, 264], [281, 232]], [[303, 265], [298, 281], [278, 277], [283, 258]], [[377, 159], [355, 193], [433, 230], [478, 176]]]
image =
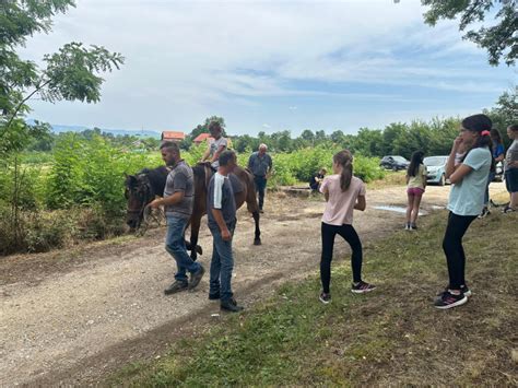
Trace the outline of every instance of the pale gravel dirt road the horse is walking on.
[[[444, 207], [448, 192], [429, 187], [423, 209]], [[368, 192], [367, 210], [355, 214], [364, 245], [403, 224], [403, 214], [375, 207], [404, 201], [404, 188]], [[318, 200], [269, 195], [262, 246], [251, 244], [252, 220], [239, 212], [234, 287], [247, 308], [275, 285], [317, 271], [322, 209]], [[211, 237], [207, 226], [200, 232], [199, 260], [208, 268]], [[164, 230], [154, 230], [139, 239], [1, 259], [0, 386], [102, 381], [115, 368], [160, 356], [179, 336], [221, 319], [212, 317], [220, 313], [217, 303], [207, 298], [208, 274], [195, 292], [164, 296], [175, 267], [163, 238]], [[338, 260], [348, 251], [345, 243], [335, 244]], [[365, 262], [368, 273], [368, 257]]]

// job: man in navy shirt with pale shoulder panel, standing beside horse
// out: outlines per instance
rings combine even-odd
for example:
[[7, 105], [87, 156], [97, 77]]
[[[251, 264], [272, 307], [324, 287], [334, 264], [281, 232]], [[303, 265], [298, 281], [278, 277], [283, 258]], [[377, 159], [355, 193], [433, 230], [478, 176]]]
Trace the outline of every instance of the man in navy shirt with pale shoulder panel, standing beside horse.
[[223, 151], [219, 162], [207, 196], [209, 230], [213, 237], [209, 299], [221, 299], [221, 309], [237, 313], [243, 307], [237, 305], [231, 285], [234, 267], [232, 237], [237, 219], [234, 191], [228, 179], [228, 174], [236, 166], [236, 154], [234, 151]]

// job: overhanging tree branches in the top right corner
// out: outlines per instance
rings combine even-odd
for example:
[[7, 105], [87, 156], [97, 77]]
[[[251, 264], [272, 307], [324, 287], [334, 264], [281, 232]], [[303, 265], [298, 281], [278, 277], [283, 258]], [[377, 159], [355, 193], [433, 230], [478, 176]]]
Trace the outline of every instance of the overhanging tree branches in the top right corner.
[[515, 64], [518, 57], [518, 1], [517, 0], [421, 0], [429, 5], [425, 22], [435, 25], [439, 19], [456, 19], [460, 15], [459, 31], [472, 23], [483, 22], [493, 15], [496, 23], [468, 31], [463, 38], [474, 42], [487, 50], [488, 62], [497, 66], [503, 58], [507, 66]]

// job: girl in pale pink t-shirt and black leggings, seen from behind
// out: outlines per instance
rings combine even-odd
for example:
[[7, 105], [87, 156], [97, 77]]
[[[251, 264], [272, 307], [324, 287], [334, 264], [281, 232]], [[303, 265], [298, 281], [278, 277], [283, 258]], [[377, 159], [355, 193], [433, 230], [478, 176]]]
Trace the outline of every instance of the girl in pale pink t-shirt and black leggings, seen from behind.
[[322, 215], [322, 256], [320, 260], [320, 279], [322, 292], [320, 302], [331, 302], [329, 283], [331, 282], [331, 260], [334, 236], [338, 234], [345, 239], [352, 249], [351, 266], [353, 269], [353, 283], [351, 292], [362, 294], [373, 291], [373, 284], [362, 280], [362, 243], [353, 227], [354, 209], [364, 211], [365, 184], [353, 176], [353, 156], [348, 150], [334, 154], [333, 173], [326, 177], [320, 186], [320, 191], [326, 198], [326, 210]]

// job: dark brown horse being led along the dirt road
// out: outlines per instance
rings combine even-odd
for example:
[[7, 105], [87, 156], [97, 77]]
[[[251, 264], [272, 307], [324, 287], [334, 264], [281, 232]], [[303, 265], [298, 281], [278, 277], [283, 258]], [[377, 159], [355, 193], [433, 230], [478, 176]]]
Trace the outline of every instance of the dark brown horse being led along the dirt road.
[[[200, 222], [203, 214], [207, 213], [207, 189], [210, 178], [214, 173], [204, 164], [193, 166], [192, 172], [195, 173], [195, 205], [190, 219], [190, 242], [186, 242], [186, 246], [191, 252], [191, 258], [196, 260], [197, 249], [192, 248], [198, 248], [197, 243]], [[163, 196], [168, 174], [169, 171], [167, 167], [162, 166], [154, 169], [144, 168], [137, 175], [128, 175], [126, 177], [126, 198], [128, 199], [126, 221], [131, 230], [134, 231], [140, 227], [146, 204], [150, 203], [155, 196]], [[231, 181], [234, 188], [236, 208], [239, 209], [243, 203], [247, 203], [247, 209], [254, 216], [256, 223], [254, 244], [260, 245], [259, 207], [257, 204], [254, 177], [250, 172], [237, 166], [234, 173], [231, 174]]]

